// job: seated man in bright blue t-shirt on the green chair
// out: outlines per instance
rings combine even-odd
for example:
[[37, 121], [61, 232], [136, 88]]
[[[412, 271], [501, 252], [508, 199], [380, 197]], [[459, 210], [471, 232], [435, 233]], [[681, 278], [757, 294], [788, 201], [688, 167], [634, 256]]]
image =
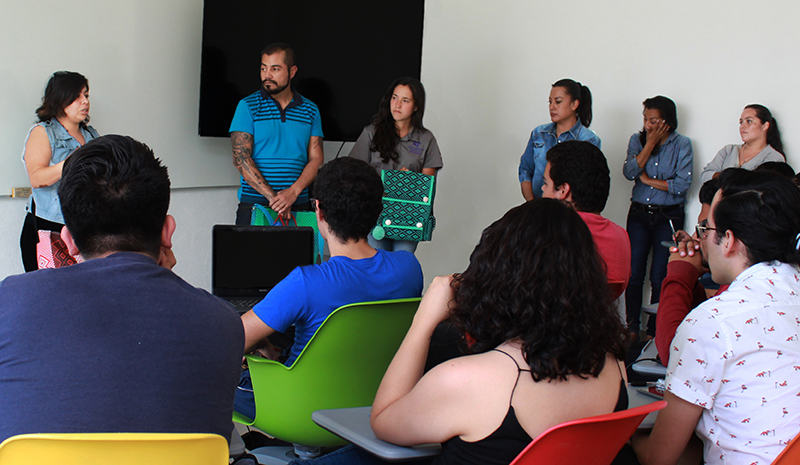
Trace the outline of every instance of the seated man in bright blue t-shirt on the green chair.
[[[367, 235], [383, 209], [383, 182], [367, 163], [338, 158], [320, 170], [313, 206], [331, 258], [295, 268], [252, 310], [242, 315], [245, 353], [265, 344], [275, 332], [295, 326], [286, 365], [294, 363], [325, 318], [356, 302], [419, 297], [422, 268], [414, 254], [375, 250]], [[255, 418], [249, 376], [243, 375], [234, 409]]]

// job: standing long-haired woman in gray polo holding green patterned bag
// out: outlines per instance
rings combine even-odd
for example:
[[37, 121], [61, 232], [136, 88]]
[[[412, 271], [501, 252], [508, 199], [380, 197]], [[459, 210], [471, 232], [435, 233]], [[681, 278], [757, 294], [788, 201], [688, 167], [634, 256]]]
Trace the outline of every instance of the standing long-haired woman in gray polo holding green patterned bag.
[[[425, 113], [425, 88], [418, 79], [395, 79], [378, 105], [372, 124], [365, 127], [350, 156], [381, 170], [414, 171], [436, 175], [442, 167], [442, 154], [433, 133], [422, 126]], [[414, 252], [417, 242], [377, 240], [369, 235], [376, 249]]]

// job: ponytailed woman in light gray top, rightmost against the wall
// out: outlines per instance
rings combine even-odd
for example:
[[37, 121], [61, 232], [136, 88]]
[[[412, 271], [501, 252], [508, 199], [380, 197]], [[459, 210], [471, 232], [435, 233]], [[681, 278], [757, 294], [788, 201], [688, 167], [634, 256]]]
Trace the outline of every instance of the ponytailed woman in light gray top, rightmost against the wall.
[[769, 109], [757, 103], [744, 107], [739, 118], [739, 134], [743, 144], [722, 147], [703, 168], [703, 182], [716, 178], [725, 168], [753, 170], [768, 161], [786, 161], [778, 122]]

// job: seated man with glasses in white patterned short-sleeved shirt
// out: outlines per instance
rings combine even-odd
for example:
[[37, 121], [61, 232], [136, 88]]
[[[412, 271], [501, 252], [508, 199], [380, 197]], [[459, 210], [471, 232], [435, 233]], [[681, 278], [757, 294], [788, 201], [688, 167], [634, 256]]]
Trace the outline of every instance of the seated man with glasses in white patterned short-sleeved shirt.
[[694, 432], [708, 464], [768, 465], [800, 433], [800, 191], [726, 170], [703, 233], [712, 278], [730, 287], [681, 323], [669, 405], [633, 447], [644, 465], [675, 464]]

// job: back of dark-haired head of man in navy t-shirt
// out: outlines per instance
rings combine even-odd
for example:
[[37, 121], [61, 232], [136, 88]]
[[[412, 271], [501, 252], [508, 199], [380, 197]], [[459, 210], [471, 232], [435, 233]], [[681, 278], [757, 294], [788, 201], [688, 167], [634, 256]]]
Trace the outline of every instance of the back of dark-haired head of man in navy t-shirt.
[[170, 182], [147, 145], [119, 135], [88, 142], [64, 163], [58, 196], [84, 258], [108, 252], [158, 257]]

